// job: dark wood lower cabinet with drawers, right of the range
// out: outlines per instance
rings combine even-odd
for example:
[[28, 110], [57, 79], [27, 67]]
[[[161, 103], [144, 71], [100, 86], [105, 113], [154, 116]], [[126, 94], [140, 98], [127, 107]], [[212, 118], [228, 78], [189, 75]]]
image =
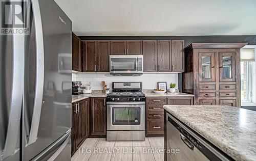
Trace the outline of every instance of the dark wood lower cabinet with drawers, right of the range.
[[146, 98], [146, 137], [163, 137], [163, 105], [190, 105], [193, 97], [147, 97]]

